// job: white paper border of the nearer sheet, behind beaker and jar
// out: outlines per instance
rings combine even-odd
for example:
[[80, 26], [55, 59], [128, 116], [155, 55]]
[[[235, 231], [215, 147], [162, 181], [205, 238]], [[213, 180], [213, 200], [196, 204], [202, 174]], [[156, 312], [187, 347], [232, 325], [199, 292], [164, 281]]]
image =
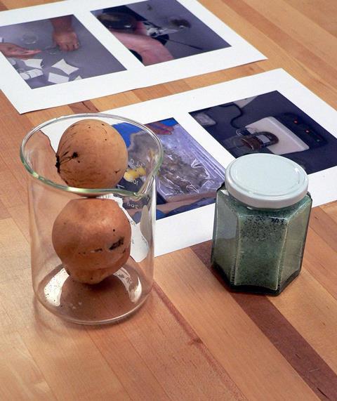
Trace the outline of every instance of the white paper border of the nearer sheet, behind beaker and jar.
[[[190, 112], [277, 91], [308, 114], [337, 138], [337, 111], [282, 69], [262, 72], [164, 98], [148, 100], [105, 113], [139, 121], [142, 124], [173, 117], [224, 167], [234, 159]], [[337, 166], [309, 174], [313, 206], [337, 199]], [[214, 204], [162, 218], [156, 223], [155, 256], [207, 241], [213, 235]]]

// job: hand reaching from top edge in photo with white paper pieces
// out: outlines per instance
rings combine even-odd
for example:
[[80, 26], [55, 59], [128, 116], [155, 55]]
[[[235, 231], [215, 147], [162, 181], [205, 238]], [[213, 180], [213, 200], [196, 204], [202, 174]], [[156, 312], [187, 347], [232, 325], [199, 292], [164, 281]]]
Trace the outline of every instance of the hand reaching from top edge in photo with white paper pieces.
[[72, 29], [72, 16], [51, 19], [53, 25], [53, 41], [62, 51], [74, 51], [79, 48], [79, 39]]

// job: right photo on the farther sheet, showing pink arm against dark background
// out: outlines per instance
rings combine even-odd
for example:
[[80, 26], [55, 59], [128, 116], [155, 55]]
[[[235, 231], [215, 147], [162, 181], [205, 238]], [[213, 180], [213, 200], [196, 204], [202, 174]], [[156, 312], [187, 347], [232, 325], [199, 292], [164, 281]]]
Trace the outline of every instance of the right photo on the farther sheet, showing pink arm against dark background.
[[176, 0], [147, 0], [93, 11], [143, 65], [230, 47]]

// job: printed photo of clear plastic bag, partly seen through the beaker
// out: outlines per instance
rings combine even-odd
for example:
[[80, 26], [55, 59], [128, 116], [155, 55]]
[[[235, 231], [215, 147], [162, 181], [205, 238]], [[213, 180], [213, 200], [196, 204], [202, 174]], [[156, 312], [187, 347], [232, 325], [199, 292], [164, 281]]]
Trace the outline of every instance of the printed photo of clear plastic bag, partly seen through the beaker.
[[[164, 160], [157, 179], [157, 220], [214, 203], [216, 190], [223, 183], [223, 166], [175, 119], [146, 125], [157, 133], [164, 147]], [[129, 166], [119, 187], [137, 191], [143, 184], [142, 176], [145, 176], [145, 170], [138, 162], [142, 159], [140, 152], [146, 154], [143, 156], [146, 159], [151, 145], [146, 146], [144, 135], [136, 126], [121, 123], [114, 128], [124, 138], [129, 155]]]

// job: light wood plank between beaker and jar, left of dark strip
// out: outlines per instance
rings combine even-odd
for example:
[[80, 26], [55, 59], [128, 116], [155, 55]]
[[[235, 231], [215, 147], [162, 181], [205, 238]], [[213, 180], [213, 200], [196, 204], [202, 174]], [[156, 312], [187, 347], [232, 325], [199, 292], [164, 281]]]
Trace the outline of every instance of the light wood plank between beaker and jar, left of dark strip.
[[315, 400], [291, 364], [205, 268], [191, 249], [183, 249], [157, 258], [155, 278], [244, 395], [252, 400], [268, 393], [273, 400]]

